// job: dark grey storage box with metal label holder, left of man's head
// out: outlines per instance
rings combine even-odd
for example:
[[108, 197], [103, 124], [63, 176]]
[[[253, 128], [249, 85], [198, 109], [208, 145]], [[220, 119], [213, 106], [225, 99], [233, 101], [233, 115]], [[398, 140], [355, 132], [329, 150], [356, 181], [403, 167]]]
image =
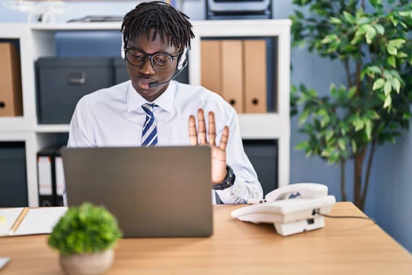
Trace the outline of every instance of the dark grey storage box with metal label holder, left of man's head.
[[37, 62], [38, 124], [69, 124], [83, 96], [113, 86], [110, 57], [49, 57]]

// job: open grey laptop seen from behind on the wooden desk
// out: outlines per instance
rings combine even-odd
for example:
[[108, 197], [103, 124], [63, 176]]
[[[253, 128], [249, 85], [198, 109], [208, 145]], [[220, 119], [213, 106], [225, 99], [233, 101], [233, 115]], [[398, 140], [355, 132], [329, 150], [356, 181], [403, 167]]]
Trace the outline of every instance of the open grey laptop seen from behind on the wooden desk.
[[62, 148], [67, 205], [115, 215], [124, 237], [211, 236], [209, 146]]

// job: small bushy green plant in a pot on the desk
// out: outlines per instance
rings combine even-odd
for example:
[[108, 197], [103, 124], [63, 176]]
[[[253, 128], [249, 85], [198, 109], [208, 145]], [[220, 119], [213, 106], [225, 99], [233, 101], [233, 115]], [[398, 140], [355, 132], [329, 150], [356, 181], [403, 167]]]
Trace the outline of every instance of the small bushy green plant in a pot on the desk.
[[49, 235], [65, 274], [103, 274], [113, 264], [113, 247], [122, 236], [117, 219], [103, 206], [69, 207]]

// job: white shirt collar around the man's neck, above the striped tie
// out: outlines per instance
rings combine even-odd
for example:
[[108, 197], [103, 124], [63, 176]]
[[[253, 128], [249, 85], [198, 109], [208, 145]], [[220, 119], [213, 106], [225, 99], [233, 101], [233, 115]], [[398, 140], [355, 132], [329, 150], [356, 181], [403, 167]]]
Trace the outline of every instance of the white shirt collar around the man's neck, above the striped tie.
[[173, 110], [174, 104], [174, 91], [176, 90], [176, 83], [171, 81], [169, 83], [168, 88], [164, 91], [159, 98], [156, 98], [153, 102], [148, 102], [148, 100], [144, 99], [143, 96], [140, 96], [135, 88], [133, 87], [132, 82], [130, 81], [128, 91], [127, 91], [127, 111], [135, 111], [136, 109], [140, 108], [141, 105], [146, 103], [155, 103], [161, 109], [168, 111], [169, 113]]

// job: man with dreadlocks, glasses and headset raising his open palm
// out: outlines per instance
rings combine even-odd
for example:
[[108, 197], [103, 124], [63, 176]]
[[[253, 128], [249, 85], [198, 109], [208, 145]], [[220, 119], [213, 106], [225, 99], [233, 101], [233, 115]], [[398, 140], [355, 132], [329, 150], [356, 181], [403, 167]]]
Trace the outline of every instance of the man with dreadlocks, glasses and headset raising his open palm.
[[233, 107], [204, 87], [172, 80], [185, 67], [186, 50], [194, 38], [188, 19], [163, 2], [140, 3], [126, 14], [122, 56], [130, 80], [78, 102], [68, 146], [207, 144], [212, 188], [222, 202], [262, 199]]

